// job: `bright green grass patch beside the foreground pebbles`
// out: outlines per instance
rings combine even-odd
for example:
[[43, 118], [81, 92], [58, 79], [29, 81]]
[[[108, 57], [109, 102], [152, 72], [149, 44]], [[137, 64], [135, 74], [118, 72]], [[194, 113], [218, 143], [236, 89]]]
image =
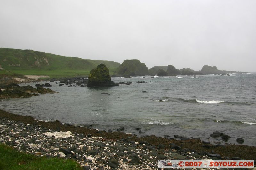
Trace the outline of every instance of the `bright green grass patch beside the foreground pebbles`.
[[81, 166], [70, 159], [36, 157], [18, 152], [13, 148], [0, 144], [1, 170], [81, 170]]

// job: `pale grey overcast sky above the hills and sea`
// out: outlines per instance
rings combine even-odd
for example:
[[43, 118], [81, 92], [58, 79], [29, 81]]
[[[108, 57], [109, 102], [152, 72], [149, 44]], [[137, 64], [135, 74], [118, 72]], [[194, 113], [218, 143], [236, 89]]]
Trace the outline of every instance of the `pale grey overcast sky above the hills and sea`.
[[256, 71], [255, 0], [0, 0], [0, 47]]

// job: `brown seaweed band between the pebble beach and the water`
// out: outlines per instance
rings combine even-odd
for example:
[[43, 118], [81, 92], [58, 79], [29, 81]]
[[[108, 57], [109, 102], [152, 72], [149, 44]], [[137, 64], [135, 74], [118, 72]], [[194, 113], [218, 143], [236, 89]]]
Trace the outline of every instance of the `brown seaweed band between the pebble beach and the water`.
[[154, 135], [147, 137], [136, 137], [131, 134], [126, 134], [124, 132], [105, 132], [98, 131], [93, 128], [87, 127], [76, 127], [69, 124], [62, 124], [58, 120], [54, 122], [44, 122], [34, 119], [31, 116], [21, 116], [13, 113], [6, 112], [4, 110], [0, 110], [0, 119], [9, 119], [15, 122], [21, 122], [24, 124], [34, 125], [36, 127], [44, 127], [57, 131], [71, 131], [72, 133], [76, 133], [87, 137], [89, 134], [94, 137], [102, 137], [104, 140], [108, 140], [111, 142], [138, 142], [140, 144], [145, 144], [148, 146], [160, 146], [161, 149], [171, 150], [173, 146], [176, 149], [179, 149], [184, 152], [185, 149], [190, 150], [190, 152], [195, 153], [216, 153], [221, 156], [221, 159], [253, 159], [256, 160], [256, 147], [247, 146], [247, 145], [235, 145], [235, 144], [226, 144], [226, 145], [213, 145], [206, 144], [200, 139], [190, 139], [190, 140], [176, 140], [176, 139], [167, 139], [162, 137], [156, 137]]

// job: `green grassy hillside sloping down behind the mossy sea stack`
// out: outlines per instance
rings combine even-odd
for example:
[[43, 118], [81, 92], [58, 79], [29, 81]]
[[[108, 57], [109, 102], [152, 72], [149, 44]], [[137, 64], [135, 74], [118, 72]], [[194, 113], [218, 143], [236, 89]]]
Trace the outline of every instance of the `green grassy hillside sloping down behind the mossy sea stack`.
[[110, 73], [120, 65], [113, 61], [88, 60], [33, 50], [0, 48], [0, 65], [4, 68], [0, 74], [6, 74], [8, 71], [8, 73], [49, 75], [50, 77], [85, 76], [89, 75], [91, 69], [96, 68], [100, 63], [104, 63]]

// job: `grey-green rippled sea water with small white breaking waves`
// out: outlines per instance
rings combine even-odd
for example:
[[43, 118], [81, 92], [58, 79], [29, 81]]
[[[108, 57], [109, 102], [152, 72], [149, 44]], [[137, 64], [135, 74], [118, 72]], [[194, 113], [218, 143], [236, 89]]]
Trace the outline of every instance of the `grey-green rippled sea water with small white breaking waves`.
[[209, 136], [220, 131], [231, 136], [226, 143], [237, 144], [240, 137], [244, 145], [256, 146], [256, 74], [150, 77], [112, 78], [133, 84], [110, 88], [59, 87], [55, 81], [51, 89], [59, 93], [3, 100], [0, 109], [99, 130], [124, 127], [138, 136], [180, 135], [224, 144]]

